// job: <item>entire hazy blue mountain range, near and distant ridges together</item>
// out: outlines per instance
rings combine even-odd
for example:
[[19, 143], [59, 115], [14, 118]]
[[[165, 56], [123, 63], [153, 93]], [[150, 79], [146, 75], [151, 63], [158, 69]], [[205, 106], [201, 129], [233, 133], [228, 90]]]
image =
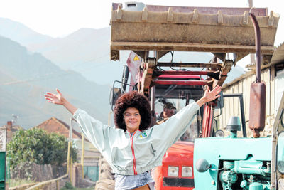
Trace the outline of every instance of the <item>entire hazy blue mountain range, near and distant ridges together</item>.
[[[80, 28], [64, 38], [36, 33], [22, 23], [0, 18], [0, 126], [18, 115], [17, 125], [33, 127], [49, 117], [69, 122], [62, 107], [45, 102], [43, 93], [59, 88], [78, 107], [107, 122], [109, 90], [121, 80], [129, 51], [109, 59], [110, 27]], [[175, 52], [175, 62], [206, 63], [211, 53]], [[161, 61], [170, 61], [170, 53]], [[243, 74], [233, 68], [226, 82]]]

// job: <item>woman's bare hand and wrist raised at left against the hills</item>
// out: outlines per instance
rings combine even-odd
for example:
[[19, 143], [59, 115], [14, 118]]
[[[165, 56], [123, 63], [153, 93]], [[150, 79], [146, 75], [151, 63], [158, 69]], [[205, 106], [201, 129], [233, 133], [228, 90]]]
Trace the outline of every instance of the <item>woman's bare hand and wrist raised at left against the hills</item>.
[[56, 91], [58, 92], [58, 94], [45, 93], [45, 99], [48, 100], [48, 102], [50, 103], [63, 105], [70, 113], [72, 113], [72, 115], [74, 115], [77, 110], [77, 107], [68, 102], [58, 89], [56, 89]]

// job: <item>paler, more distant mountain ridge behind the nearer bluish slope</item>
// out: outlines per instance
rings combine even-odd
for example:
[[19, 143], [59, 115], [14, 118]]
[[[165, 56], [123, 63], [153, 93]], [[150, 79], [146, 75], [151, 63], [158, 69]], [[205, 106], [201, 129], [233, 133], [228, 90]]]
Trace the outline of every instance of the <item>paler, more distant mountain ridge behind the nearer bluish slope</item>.
[[[0, 18], [0, 35], [17, 41], [28, 51], [41, 53], [63, 70], [75, 70], [100, 85], [110, 85], [114, 80], [121, 79], [123, 65], [126, 65], [130, 53], [120, 51], [120, 62], [110, 60], [110, 27], [80, 28], [64, 38], [52, 38], [36, 33], [21, 23]], [[175, 52], [173, 61], [206, 63], [211, 58], [212, 53]], [[161, 60], [170, 61], [170, 53]], [[243, 73], [244, 69], [236, 65], [226, 82]]]

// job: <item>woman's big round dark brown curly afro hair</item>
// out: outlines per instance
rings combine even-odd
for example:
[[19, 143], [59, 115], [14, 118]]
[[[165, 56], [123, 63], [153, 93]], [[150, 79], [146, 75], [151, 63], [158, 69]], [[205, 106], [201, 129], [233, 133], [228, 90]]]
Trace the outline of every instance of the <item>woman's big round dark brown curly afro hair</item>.
[[135, 107], [139, 110], [141, 115], [139, 130], [147, 130], [151, 124], [150, 104], [146, 96], [136, 91], [125, 93], [116, 101], [116, 105], [114, 107], [114, 123], [116, 127], [126, 131], [124, 111], [129, 107]]

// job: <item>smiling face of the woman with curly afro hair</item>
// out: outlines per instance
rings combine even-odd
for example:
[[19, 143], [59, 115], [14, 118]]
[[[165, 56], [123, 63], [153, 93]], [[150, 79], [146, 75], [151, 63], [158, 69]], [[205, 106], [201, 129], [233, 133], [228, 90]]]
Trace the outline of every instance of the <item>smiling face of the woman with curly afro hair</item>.
[[129, 107], [124, 112], [124, 122], [129, 132], [135, 132], [141, 123], [141, 115], [135, 107]]

